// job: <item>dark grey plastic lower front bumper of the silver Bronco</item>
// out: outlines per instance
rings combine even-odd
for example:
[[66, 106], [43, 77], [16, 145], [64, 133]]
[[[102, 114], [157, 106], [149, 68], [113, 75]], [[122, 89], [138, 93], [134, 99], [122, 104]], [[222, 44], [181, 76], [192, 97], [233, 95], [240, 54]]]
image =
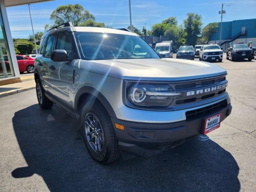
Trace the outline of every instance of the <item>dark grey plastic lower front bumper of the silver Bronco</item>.
[[[170, 122], [170, 123], [145, 123], [131, 122], [111, 118], [112, 124], [124, 126], [124, 130], [115, 128], [119, 148], [133, 155], [152, 156], [175, 147], [186, 140], [202, 133], [205, 118], [222, 113], [222, 121], [231, 113], [232, 106], [227, 100], [222, 108], [198, 118]], [[216, 106], [216, 103], [213, 106]], [[208, 106], [207, 106], [208, 107]], [[206, 107], [206, 108], [207, 108]], [[206, 109], [205, 108], [205, 109]], [[200, 110], [202, 108], [198, 108]], [[195, 110], [194, 110], [195, 111]], [[158, 113], [158, 112], [156, 112]]]

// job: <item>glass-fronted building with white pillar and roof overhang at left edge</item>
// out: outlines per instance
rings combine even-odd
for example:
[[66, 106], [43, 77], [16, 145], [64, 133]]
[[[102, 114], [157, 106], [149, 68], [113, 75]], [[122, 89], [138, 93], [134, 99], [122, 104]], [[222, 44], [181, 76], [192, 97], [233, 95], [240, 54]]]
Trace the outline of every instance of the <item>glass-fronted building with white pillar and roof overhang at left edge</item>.
[[6, 14], [6, 7], [43, 1], [47, 0], [0, 0], [0, 86], [20, 82], [20, 72]]

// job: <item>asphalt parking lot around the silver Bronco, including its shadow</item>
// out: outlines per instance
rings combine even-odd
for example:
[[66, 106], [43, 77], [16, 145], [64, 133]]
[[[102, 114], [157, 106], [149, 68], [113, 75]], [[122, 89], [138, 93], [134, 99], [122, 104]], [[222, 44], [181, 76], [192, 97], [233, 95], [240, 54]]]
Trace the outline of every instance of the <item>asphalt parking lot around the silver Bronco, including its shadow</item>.
[[220, 128], [108, 165], [90, 158], [72, 117], [38, 106], [35, 90], [0, 98], [0, 191], [255, 192], [256, 60], [216, 64], [228, 70], [233, 106]]

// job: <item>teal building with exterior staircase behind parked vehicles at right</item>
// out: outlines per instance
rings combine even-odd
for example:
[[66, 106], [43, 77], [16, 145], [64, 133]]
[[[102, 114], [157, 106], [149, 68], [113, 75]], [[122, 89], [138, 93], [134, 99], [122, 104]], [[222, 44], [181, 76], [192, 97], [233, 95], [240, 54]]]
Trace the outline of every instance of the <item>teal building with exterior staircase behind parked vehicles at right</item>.
[[[218, 23], [218, 31], [210, 37], [208, 44], [218, 44], [219, 40], [220, 23]], [[226, 50], [230, 42], [233, 44], [252, 42], [252, 46], [256, 46], [256, 19], [222, 22], [221, 47]]]

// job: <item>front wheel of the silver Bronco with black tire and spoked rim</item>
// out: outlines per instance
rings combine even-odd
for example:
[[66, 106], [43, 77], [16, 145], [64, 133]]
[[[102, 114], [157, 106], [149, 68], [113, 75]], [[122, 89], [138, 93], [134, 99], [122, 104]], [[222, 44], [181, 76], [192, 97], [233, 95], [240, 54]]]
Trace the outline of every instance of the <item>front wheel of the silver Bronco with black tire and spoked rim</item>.
[[[100, 124], [97, 124], [96, 126], [94, 126], [96, 127], [96, 130], [100, 130], [98, 131], [98, 133], [103, 132], [102, 140], [104, 142], [100, 142], [100, 150], [98, 147], [98, 151], [96, 150], [96, 147], [94, 148], [92, 146], [93, 144], [94, 146], [99, 146], [99, 145], [95, 145], [96, 144], [95, 140], [97, 138], [96, 134], [92, 133], [91, 131], [90, 132], [92, 134], [89, 134], [89, 135], [86, 134], [86, 121], [90, 115], [96, 116], [97, 122], [98, 121], [100, 122]], [[92, 158], [94, 158], [97, 162], [101, 164], [107, 164], [116, 160], [120, 156], [120, 151], [118, 149], [118, 140], [114, 132], [112, 122], [110, 120], [110, 117], [106, 109], [102, 106], [102, 104], [98, 100], [95, 100], [94, 104], [91, 107], [88, 106], [88, 104], [84, 105], [84, 108], [82, 109], [82, 112], [81, 112], [80, 126], [81, 126], [82, 136], [86, 144], [86, 148], [88, 149], [88, 152], [90, 153]], [[98, 129], [99, 127], [100, 129]], [[98, 134], [98, 138], [99, 138], [99, 135], [100, 134]], [[89, 140], [92, 140], [92, 141], [89, 142]]]

